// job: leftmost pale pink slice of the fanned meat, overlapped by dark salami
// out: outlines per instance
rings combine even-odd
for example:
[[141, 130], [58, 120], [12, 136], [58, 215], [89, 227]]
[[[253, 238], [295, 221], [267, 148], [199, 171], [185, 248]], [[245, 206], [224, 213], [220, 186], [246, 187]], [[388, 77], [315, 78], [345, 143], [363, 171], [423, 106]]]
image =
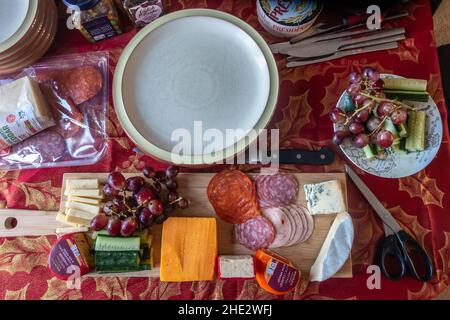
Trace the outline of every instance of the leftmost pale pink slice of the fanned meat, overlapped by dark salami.
[[272, 223], [275, 229], [275, 238], [269, 248], [285, 246], [293, 231], [291, 220], [280, 208], [275, 207], [264, 209], [262, 215]]

